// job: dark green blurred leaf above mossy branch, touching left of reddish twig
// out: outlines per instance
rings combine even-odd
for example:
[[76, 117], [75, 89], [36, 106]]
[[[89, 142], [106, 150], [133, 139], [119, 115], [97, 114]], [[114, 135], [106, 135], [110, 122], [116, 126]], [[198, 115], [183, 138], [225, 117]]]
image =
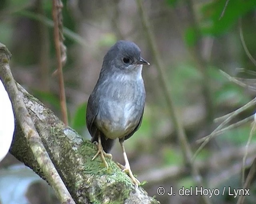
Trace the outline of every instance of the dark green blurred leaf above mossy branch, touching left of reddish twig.
[[36, 98], [40, 99], [44, 103], [50, 104], [56, 110], [60, 110], [60, 100], [58, 96], [50, 92], [44, 92], [40, 90], [33, 90], [33, 94]]

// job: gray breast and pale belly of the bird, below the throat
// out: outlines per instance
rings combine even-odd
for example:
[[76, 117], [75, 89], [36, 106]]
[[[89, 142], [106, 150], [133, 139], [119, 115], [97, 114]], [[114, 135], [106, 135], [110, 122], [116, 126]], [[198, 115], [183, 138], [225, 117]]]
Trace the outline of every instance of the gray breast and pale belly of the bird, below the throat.
[[113, 85], [105, 86], [96, 116], [98, 128], [110, 139], [124, 137], [138, 126], [145, 103], [143, 80]]

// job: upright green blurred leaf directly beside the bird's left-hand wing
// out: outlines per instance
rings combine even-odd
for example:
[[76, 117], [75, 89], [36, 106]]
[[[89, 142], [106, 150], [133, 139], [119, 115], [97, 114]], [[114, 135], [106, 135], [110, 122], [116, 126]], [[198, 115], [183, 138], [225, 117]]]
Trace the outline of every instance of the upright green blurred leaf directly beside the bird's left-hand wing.
[[78, 133], [82, 133], [82, 130], [86, 127], [86, 107], [87, 103], [80, 104], [76, 109], [74, 118], [72, 119], [71, 127], [74, 128]]

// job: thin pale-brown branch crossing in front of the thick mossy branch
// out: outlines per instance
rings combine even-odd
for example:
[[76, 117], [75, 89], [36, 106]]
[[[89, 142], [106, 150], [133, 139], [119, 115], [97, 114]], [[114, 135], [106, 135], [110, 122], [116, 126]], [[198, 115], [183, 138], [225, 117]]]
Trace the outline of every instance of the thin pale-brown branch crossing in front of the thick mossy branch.
[[30, 118], [30, 114], [22, 100], [21, 94], [10, 70], [10, 56], [8, 49], [0, 43], [0, 77], [5, 84], [8, 94], [10, 95], [16, 121], [20, 125], [22, 132], [26, 137], [28, 146], [43, 172], [43, 176], [51, 184], [60, 202], [64, 204], [75, 204], [70, 193], [66, 189], [65, 184], [60, 178], [60, 175], [55, 169], [54, 164], [49, 158], [49, 155], [46, 152], [46, 149], [44, 148], [40, 136], [34, 126], [34, 122]]

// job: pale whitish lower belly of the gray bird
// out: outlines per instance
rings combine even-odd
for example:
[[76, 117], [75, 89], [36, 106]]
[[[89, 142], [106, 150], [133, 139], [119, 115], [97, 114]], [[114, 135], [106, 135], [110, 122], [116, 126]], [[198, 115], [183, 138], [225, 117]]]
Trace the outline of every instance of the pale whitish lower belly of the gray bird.
[[[141, 117], [141, 107], [131, 102], [118, 104], [107, 102], [106, 108], [98, 113], [96, 124], [107, 138], [122, 138], [138, 126]], [[133, 103], [134, 104], [134, 103]]]

